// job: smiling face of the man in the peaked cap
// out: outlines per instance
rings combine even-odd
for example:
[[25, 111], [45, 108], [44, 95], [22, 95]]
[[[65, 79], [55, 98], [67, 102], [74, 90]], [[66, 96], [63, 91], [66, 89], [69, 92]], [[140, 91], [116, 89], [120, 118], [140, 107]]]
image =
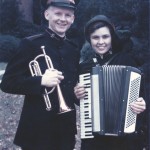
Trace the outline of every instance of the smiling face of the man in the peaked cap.
[[49, 28], [59, 36], [63, 37], [74, 22], [74, 11], [71, 9], [50, 6], [45, 11], [45, 18], [49, 22]]

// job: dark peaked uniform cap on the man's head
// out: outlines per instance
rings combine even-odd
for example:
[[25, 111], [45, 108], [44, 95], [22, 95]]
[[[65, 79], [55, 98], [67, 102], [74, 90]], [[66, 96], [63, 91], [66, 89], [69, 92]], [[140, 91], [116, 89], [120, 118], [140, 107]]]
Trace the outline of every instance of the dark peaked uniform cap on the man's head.
[[41, 5], [44, 9], [47, 9], [49, 6], [55, 6], [75, 10], [78, 3], [79, 0], [41, 0]]

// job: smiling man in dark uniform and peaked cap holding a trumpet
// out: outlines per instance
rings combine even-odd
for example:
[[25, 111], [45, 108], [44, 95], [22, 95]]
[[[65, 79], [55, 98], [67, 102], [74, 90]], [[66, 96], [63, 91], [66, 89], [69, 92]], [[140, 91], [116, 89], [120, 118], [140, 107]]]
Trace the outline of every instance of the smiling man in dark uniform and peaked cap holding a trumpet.
[[[79, 50], [67, 39], [66, 31], [74, 22], [77, 4], [74, 0], [48, 0], [42, 3], [48, 28], [43, 34], [21, 41], [18, 53], [8, 63], [1, 89], [7, 93], [25, 95], [14, 139], [16, 145], [22, 150], [73, 150], [76, 134], [73, 87], [78, 79]], [[29, 63], [43, 54], [43, 49], [54, 68], [47, 67], [46, 57], [42, 55], [38, 62], [42, 74], [33, 76]], [[66, 103], [63, 107], [68, 107], [68, 112], [60, 108], [58, 86]], [[45, 90], [51, 89], [54, 91], [43, 97]], [[50, 111], [46, 110], [44, 100], [50, 102]]]

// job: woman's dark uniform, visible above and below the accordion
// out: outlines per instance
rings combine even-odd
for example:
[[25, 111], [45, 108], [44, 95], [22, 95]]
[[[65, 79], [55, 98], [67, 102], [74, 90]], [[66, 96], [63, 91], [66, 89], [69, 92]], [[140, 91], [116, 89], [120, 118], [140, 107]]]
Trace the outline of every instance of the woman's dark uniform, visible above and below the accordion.
[[[93, 58], [96, 61], [93, 61]], [[91, 68], [96, 65], [124, 65], [137, 67], [134, 60], [125, 52], [110, 53], [107, 52], [101, 58], [97, 54], [92, 54], [89, 59], [83, 60], [80, 63], [80, 74], [91, 72]], [[114, 136], [95, 136], [94, 139], [83, 139], [81, 150], [141, 150], [143, 145], [143, 116], [141, 113], [138, 115], [136, 123], [136, 132], [123, 137]], [[140, 140], [139, 140], [140, 139]], [[141, 147], [140, 147], [141, 146]]]

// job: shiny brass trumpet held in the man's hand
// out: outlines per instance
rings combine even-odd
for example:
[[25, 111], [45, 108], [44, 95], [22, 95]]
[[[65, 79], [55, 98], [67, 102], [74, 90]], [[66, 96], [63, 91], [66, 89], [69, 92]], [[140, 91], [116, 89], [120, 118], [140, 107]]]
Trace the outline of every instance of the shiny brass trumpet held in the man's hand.
[[[48, 55], [46, 55], [45, 46], [41, 46], [41, 49], [43, 51], [43, 54], [40, 54], [40, 55], [36, 56], [34, 58], [34, 60], [32, 60], [29, 63], [29, 68], [30, 68], [30, 72], [31, 72], [32, 76], [42, 76], [42, 72], [41, 72], [41, 69], [40, 69], [40, 66], [39, 66], [39, 63], [38, 63], [38, 59], [41, 58], [41, 57], [45, 58], [45, 62], [46, 62], [46, 65], [47, 65], [48, 69], [54, 69], [51, 58]], [[59, 100], [59, 114], [71, 111], [72, 109], [70, 109], [66, 105], [66, 102], [64, 100], [64, 97], [63, 97], [63, 94], [62, 94], [62, 91], [61, 91], [61, 88], [60, 88], [59, 84], [56, 85], [56, 87], [53, 87], [49, 92], [45, 88], [45, 93], [43, 94], [43, 98], [44, 98], [44, 101], [45, 101], [45, 104], [46, 104], [46, 110], [50, 111], [52, 109], [50, 98], [49, 98], [48, 95], [50, 93], [52, 93], [55, 88], [57, 89], [57, 95], [58, 95], [58, 100]]]

